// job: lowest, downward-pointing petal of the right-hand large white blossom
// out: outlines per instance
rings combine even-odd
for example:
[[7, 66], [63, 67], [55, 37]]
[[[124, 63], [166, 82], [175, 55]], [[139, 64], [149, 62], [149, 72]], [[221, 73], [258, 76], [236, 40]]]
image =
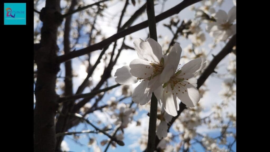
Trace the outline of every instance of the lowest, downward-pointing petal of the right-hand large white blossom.
[[163, 91], [163, 106], [169, 115], [177, 115], [176, 95], [173, 95], [171, 87], [166, 87]]

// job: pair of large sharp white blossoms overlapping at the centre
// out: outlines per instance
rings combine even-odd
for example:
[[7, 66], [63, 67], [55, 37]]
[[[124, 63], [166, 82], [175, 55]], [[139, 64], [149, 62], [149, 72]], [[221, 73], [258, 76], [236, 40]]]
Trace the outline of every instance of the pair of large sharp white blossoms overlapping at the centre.
[[194, 75], [205, 65], [205, 58], [196, 58], [178, 68], [182, 48], [175, 43], [168, 55], [154, 39], [135, 40], [134, 49], [138, 59], [116, 70], [115, 81], [119, 84], [141, 83], [133, 90], [134, 103], [145, 105], [152, 97], [157, 97], [161, 107], [172, 116], [177, 115], [179, 100], [189, 107], [195, 107], [200, 100], [197, 79]]

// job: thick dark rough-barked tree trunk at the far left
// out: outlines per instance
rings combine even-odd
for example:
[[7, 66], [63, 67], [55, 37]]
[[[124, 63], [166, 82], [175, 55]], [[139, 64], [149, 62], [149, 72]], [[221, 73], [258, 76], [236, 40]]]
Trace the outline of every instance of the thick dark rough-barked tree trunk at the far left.
[[56, 40], [60, 18], [60, 0], [46, 1], [40, 11], [41, 29], [40, 48], [35, 53], [38, 67], [34, 109], [34, 151], [54, 152], [56, 144], [55, 115], [58, 109], [58, 95], [55, 92], [56, 75], [60, 70], [56, 62], [59, 50]]

